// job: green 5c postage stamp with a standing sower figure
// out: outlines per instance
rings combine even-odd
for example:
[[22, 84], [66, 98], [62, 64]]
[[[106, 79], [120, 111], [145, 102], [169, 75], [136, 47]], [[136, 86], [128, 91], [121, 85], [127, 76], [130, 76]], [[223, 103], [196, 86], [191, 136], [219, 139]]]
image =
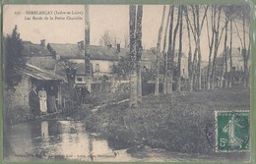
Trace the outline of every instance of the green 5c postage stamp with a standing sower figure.
[[250, 149], [249, 111], [216, 111], [216, 151]]

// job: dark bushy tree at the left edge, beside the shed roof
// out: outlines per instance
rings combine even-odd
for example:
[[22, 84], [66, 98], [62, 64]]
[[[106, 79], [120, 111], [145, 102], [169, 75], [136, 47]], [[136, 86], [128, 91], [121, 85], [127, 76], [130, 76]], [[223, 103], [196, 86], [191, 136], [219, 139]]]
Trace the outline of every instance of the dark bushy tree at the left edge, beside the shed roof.
[[22, 39], [18, 32], [18, 27], [15, 26], [12, 35], [8, 35], [5, 39], [5, 83], [10, 89], [15, 89], [15, 86], [22, 81], [22, 76], [17, 75], [15, 69], [25, 67], [26, 60], [22, 56]]

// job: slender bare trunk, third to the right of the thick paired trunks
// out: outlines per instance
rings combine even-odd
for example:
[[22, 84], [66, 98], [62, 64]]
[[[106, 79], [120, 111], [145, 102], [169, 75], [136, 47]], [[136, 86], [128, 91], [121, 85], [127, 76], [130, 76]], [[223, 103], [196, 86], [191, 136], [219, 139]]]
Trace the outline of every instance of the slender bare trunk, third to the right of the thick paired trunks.
[[172, 93], [172, 75], [171, 75], [171, 66], [173, 65], [173, 61], [171, 60], [171, 52], [172, 52], [172, 28], [173, 28], [173, 15], [174, 15], [174, 5], [171, 5], [171, 14], [170, 14], [170, 24], [169, 24], [169, 46], [167, 52], [167, 78], [166, 78], [166, 88], [167, 94]]

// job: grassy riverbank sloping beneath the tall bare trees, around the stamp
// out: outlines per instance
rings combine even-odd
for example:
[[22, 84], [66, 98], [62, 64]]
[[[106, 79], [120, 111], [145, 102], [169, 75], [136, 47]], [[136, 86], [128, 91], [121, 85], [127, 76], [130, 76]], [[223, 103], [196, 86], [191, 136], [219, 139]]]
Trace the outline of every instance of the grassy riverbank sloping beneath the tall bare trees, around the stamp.
[[[143, 97], [139, 108], [130, 109], [128, 102], [108, 105], [88, 115], [85, 123], [118, 148], [147, 145], [171, 152], [235, 159], [236, 153], [214, 150], [214, 112], [248, 110], [249, 104], [249, 89], [244, 88], [149, 95]], [[248, 154], [243, 154], [247, 159]]]

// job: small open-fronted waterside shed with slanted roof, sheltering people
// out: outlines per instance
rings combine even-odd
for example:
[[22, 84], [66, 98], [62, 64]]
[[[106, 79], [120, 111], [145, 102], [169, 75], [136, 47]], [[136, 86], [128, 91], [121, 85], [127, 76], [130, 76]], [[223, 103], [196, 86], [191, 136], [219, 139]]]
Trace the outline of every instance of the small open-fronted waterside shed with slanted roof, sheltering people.
[[29, 93], [32, 90], [32, 85], [36, 85], [38, 89], [44, 87], [45, 90], [49, 90], [50, 86], [53, 86], [56, 90], [56, 104], [58, 110], [62, 107], [61, 99], [61, 84], [65, 80], [46, 70], [40, 69], [31, 64], [26, 64], [24, 67], [14, 68], [17, 75], [22, 77], [21, 82], [15, 86], [14, 90], [5, 91], [5, 108], [7, 110], [21, 110], [31, 113], [29, 106]]

